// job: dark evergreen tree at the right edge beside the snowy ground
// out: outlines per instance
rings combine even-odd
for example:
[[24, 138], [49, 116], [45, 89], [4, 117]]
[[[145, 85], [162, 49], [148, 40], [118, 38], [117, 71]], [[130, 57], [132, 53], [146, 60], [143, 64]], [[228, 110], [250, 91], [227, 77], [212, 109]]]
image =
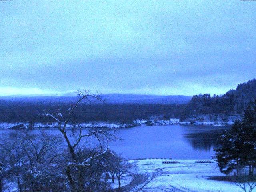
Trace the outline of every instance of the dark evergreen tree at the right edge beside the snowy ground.
[[234, 169], [239, 176], [240, 168], [248, 166], [253, 176], [256, 166], [256, 100], [244, 111], [242, 122], [235, 122], [219, 139], [221, 147], [216, 149], [216, 160], [220, 172], [230, 174]]

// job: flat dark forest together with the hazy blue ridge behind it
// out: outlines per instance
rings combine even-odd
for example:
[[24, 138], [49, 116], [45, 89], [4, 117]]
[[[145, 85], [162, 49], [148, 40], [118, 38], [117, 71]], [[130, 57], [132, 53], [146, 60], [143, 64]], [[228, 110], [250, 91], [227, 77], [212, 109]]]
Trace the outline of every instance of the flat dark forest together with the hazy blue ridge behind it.
[[[136, 94], [103, 94], [99, 102], [83, 103], [72, 114], [77, 123], [120, 122], [131, 123], [137, 119], [160, 117], [168, 120], [181, 116], [190, 96], [155, 96]], [[66, 113], [77, 100], [77, 96], [4, 96], [0, 99], [0, 123], [51, 123], [40, 114], [51, 112]]]

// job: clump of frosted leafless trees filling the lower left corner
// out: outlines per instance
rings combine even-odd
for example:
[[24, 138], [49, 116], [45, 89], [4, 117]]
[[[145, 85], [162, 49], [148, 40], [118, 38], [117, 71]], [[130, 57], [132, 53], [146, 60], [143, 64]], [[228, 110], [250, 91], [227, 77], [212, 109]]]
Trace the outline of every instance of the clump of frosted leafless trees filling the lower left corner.
[[9, 190], [16, 187], [19, 192], [62, 191], [66, 179], [62, 168], [57, 166], [61, 157], [59, 146], [58, 137], [43, 132], [38, 135], [14, 132], [2, 136], [0, 174], [5, 176], [3, 181], [12, 183]]

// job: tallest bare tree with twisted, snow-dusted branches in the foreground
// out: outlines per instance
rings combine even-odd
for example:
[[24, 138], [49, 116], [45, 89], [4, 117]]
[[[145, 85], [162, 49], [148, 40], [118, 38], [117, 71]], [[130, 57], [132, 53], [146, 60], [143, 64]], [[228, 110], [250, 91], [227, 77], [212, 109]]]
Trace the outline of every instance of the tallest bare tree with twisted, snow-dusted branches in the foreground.
[[[78, 100], [68, 109], [66, 116], [58, 112], [56, 114], [45, 113], [44, 116], [48, 116], [55, 120], [58, 124], [58, 130], [64, 137], [66, 144], [68, 146], [68, 151], [71, 156], [71, 162], [68, 162], [66, 166], [66, 175], [69, 180], [69, 184], [72, 188], [72, 191], [82, 192], [85, 190], [85, 181], [84, 181], [84, 172], [86, 168], [92, 168], [93, 162], [95, 160], [100, 160], [104, 154], [108, 152], [108, 142], [111, 138], [116, 138], [114, 133], [108, 132], [106, 130], [100, 129], [91, 129], [88, 130], [86, 134], [82, 132], [82, 126], [79, 124], [74, 125], [73, 129], [78, 130], [76, 133], [76, 139], [73, 141], [70, 136], [68, 136], [66, 127], [72, 120], [72, 115], [76, 108], [83, 104], [84, 101], [92, 103], [95, 101], [103, 102], [98, 93], [91, 94], [88, 90], [78, 90]], [[85, 138], [95, 138], [98, 141], [98, 148], [100, 150], [92, 150], [91, 156], [83, 156], [81, 158], [81, 151], [88, 147], [83, 142]], [[76, 176], [74, 176], [74, 172]]]

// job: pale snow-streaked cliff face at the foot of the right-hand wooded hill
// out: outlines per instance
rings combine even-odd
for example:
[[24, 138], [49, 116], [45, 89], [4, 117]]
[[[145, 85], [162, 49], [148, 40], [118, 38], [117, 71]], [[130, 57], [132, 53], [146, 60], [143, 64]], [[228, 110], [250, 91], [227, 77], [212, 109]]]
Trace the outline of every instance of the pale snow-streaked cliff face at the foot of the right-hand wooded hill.
[[180, 124], [229, 126], [232, 125], [236, 120], [241, 120], [241, 118], [242, 115], [239, 114], [198, 114], [189, 116], [180, 122]]

